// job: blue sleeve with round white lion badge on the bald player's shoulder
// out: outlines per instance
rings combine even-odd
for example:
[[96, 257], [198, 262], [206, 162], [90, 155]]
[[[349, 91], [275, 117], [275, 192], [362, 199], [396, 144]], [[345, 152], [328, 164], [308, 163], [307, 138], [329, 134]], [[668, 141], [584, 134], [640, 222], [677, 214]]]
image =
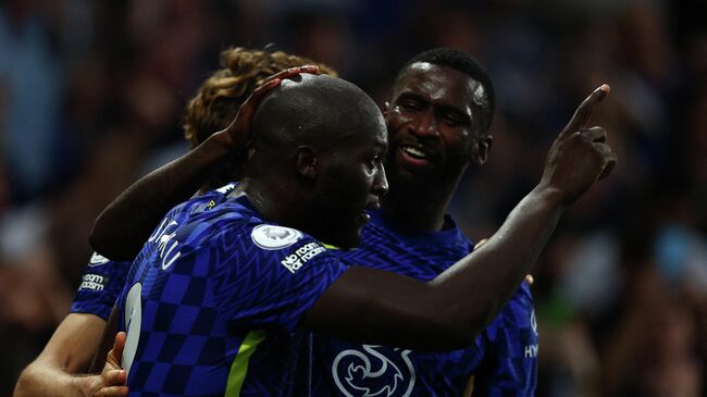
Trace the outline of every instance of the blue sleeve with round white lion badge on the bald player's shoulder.
[[258, 224], [226, 232], [223, 239], [233, 247], [215, 264], [214, 299], [226, 321], [241, 326], [293, 331], [347, 269], [323, 244], [294, 228]]

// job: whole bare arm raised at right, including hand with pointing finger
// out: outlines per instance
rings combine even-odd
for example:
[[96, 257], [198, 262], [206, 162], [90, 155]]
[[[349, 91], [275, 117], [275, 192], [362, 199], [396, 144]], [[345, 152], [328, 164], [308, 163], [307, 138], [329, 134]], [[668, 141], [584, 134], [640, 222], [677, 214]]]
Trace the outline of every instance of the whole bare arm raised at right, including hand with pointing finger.
[[307, 313], [306, 323], [337, 337], [413, 349], [456, 349], [503, 308], [545, 247], [563, 209], [610, 172], [606, 131], [586, 128], [608, 94], [597, 88], [553, 144], [538, 185], [486, 244], [424, 284], [351, 268]]

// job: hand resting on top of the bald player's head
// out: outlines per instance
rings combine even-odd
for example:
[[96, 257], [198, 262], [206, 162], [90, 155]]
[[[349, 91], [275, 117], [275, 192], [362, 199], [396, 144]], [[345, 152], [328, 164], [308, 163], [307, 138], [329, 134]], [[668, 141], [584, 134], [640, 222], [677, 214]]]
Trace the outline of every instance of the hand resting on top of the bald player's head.
[[265, 78], [260, 87], [256, 88], [252, 94], [240, 106], [238, 114], [234, 121], [225, 129], [216, 133], [224, 134], [227, 137], [228, 145], [233, 148], [236, 156], [244, 156], [245, 149], [250, 141], [250, 129], [252, 126], [252, 119], [258, 110], [260, 101], [273, 89], [280, 86], [283, 79], [294, 78], [302, 73], [319, 74], [319, 66], [305, 65], [290, 67], [280, 73]]

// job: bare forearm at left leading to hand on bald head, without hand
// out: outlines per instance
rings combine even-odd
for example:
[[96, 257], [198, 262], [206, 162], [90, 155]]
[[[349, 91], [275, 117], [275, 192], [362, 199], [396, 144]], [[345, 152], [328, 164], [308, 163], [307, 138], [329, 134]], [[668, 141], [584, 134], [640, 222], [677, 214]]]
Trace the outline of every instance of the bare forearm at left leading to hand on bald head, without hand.
[[230, 158], [224, 134], [214, 134], [194, 150], [144, 176], [96, 219], [89, 243], [113, 259], [135, 259], [160, 220], [187, 200]]

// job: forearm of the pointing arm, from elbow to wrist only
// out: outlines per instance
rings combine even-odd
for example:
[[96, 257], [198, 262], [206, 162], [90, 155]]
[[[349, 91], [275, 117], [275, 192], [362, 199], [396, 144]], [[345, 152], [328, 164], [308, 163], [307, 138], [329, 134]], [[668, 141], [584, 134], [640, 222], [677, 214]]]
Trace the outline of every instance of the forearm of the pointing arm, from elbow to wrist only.
[[481, 332], [531, 271], [563, 208], [551, 189], [525, 196], [486, 244], [430, 283], [439, 310], [464, 319], [466, 332]]

